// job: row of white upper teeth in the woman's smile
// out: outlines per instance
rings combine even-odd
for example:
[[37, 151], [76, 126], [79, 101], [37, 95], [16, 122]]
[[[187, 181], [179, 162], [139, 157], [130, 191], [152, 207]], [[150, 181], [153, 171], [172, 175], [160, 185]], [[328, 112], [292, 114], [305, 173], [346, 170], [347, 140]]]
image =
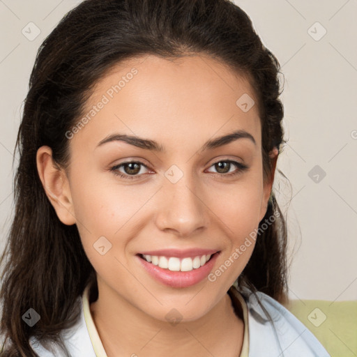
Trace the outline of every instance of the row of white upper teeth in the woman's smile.
[[163, 269], [169, 269], [169, 271], [192, 271], [201, 266], [204, 266], [206, 262], [211, 258], [211, 255], [198, 255], [194, 258], [183, 258], [180, 260], [177, 257], [158, 257], [157, 255], [143, 255], [146, 261], [153, 265], [160, 266]]

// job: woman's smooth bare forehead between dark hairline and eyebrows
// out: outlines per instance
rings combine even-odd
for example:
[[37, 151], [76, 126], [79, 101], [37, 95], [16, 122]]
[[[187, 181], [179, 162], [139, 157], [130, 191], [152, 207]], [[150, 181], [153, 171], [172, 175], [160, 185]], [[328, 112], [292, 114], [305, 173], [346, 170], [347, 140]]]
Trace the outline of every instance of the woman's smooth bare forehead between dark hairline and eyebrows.
[[257, 98], [248, 79], [201, 54], [146, 55], [112, 66], [94, 86], [83, 116], [88, 124], [75, 139], [87, 143], [98, 144], [114, 131], [199, 141], [242, 129], [261, 140]]

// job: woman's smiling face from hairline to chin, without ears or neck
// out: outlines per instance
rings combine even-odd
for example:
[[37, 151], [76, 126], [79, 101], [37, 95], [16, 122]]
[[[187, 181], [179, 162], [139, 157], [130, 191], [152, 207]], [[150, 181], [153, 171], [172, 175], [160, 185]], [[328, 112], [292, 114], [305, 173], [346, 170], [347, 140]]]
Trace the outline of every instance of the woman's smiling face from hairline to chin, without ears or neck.
[[98, 82], [66, 136], [69, 202], [99, 294], [162, 321], [172, 309], [198, 319], [225, 296], [271, 190], [252, 100], [248, 82], [206, 56], [130, 59]]

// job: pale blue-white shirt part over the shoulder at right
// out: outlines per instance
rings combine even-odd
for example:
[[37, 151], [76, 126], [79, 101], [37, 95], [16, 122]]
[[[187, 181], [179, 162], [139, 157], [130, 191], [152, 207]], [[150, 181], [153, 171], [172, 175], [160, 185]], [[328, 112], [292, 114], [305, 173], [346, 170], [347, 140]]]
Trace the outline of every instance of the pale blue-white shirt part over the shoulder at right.
[[250, 356], [330, 357], [308, 328], [278, 301], [243, 291], [248, 306]]

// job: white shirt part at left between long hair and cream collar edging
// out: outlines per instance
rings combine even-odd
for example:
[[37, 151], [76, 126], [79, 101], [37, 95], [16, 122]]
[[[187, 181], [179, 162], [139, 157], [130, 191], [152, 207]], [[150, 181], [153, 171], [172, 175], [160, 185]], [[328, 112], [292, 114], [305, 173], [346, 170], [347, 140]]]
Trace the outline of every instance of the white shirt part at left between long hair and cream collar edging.
[[[78, 298], [80, 308], [79, 318], [77, 322], [70, 328], [61, 331], [61, 339], [71, 357], [96, 357], [89, 337], [86, 321], [84, 319], [84, 310], [82, 298]], [[33, 351], [39, 357], [66, 357], [65, 351], [58, 344], [52, 342], [38, 341], [36, 337], [29, 339]]]

